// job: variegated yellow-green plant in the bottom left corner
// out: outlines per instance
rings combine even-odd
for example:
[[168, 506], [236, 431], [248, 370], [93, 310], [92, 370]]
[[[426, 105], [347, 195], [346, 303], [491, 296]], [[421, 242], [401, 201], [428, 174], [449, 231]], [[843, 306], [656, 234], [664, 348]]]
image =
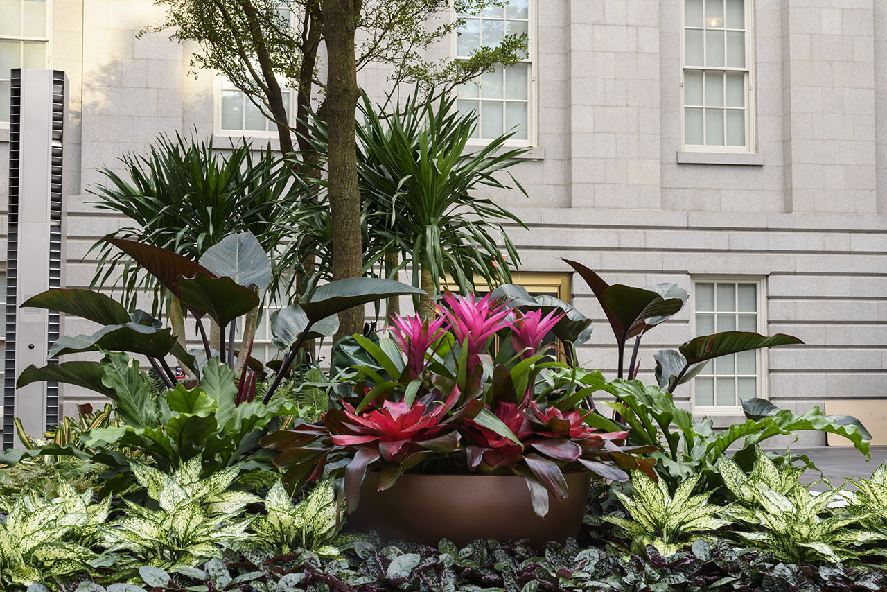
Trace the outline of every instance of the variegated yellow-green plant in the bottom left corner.
[[0, 588], [27, 588], [89, 569], [95, 553], [78, 543], [94, 542], [109, 500], [90, 504], [91, 492], [81, 496], [66, 485], [59, 483], [61, 495], [51, 501], [32, 492], [4, 504], [8, 514], [0, 521]]

